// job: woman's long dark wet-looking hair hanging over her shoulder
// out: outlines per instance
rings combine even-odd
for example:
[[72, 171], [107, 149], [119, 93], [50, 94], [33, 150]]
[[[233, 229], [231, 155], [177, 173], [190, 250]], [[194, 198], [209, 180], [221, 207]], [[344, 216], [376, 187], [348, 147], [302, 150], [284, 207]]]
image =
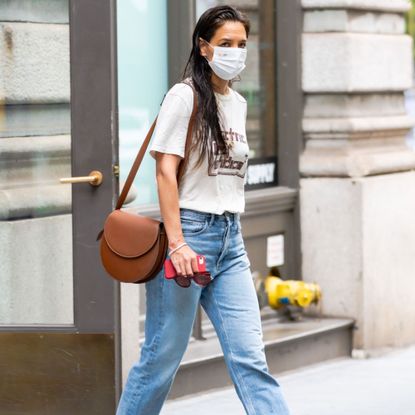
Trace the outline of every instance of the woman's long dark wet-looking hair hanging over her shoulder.
[[183, 79], [191, 78], [198, 96], [198, 112], [196, 117], [196, 140], [192, 145], [199, 148], [199, 158], [196, 166], [200, 165], [208, 155], [209, 168], [213, 164], [211, 141], [216, 141], [220, 153], [227, 150], [222, 135], [218, 106], [214, 95], [211, 75], [212, 69], [205, 57], [200, 54], [199, 38], [210, 41], [216, 30], [228, 21], [241, 22], [249, 35], [250, 23], [248, 18], [231, 6], [217, 6], [206, 10], [199, 18], [192, 36], [192, 50], [183, 72]]

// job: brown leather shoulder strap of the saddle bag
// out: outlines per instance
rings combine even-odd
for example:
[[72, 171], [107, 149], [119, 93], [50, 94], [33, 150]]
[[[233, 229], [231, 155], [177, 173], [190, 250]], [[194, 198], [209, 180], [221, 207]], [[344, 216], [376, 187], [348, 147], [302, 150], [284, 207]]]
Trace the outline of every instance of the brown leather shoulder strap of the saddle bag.
[[[182, 81], [182, 82], [185, 83], [186, 85], [189, 85], [193, 90], [193, 109], [192, 109], [192, 114], [190, 116], [189, 124], [188, 124], [188, 127], [187, 127], [184, 159], [182, 159], [180, 161], [179, 168], [177, 170], [177, 183], [178, 183], [178, 185], [180, 184], [180, 180], [183, 176], [185, 165], [186, 165], [186, 162], [187, 162], [187, 159], [188, 159], [188, 156], [189, 156], [190, 144], [191, 144], [192, 134], [193, 134], [193, 127], [194, 127], [194, 124], [195, 124], [195, 118], [196, 118], [196, 112], [197, 112], [197, 94], [196, 94], [195, 88], [190, 82], [186, 82], [186, 81]], [[130, 173], [128, 174], [128, 177], [125, 181], [125, 184], [123, 186], [121, 194], [118, 198], [117, 205], [116, 205], [115, 209], [121, 209], [122, 205], [124, 204], [125, 198], [127, 197], [128, 192], [131, 188], [131, 185], [133, 184], [134, 178], [135, 178], [135, 176], [137, 174], [137, 171], [140, 167], [140, 164], [143, 160], [144, 154], [147, 151], [147, 147], [150, 143], [151, 136], [153, 135], [154, 129], [156, 127], [157, 118], [158, 118], [158, 116], [153, 121], [153, 124], [151, 125], [151, 127], [150, 127], [150, 129], [149, 129], [149, 131], [146, 135], [146, 138], [144, 139], [144, 142], [140, 147], [140, 150], [139, 150], [139, 152], [138, 152], [138, 154], [137, 154], [137, 156], [134, 160], [134, 163], [131, 167]]]

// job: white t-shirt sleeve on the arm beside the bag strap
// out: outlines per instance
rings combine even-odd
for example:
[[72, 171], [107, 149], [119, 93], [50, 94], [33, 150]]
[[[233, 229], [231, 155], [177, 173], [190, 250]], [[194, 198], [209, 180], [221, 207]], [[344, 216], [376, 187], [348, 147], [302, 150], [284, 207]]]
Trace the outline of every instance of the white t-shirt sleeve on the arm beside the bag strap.
[[160, 108], [150, 145], [150, 155], [156, 152], [184, 157], [187, 128], [193, 108], [193, 91], [189, 85], [178, 83], [166, 94]]

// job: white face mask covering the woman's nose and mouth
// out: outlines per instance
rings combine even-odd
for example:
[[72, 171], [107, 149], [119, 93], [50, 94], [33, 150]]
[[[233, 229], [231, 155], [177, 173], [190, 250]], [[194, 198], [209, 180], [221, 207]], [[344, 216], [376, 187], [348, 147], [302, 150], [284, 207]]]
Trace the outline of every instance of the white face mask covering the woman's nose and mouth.
[[212, 46], [209, 42], [205, 42], [213, 47], [213, 57], [210, 61], [206, 58], [213, 72], [226, 81], [238, 76], [245, 69], [246, 48], [228, 48], [222, 46]]

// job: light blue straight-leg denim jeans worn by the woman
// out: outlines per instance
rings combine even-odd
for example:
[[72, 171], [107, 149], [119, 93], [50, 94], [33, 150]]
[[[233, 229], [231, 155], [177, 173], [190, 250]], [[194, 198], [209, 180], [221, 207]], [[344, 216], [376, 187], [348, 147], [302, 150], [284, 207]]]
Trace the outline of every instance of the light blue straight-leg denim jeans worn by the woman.
[[[213, 281], [182, 288], [163, 271], [145, 283], [145, 342], [132, 366], [117, 415], [157, 415], [171, 389], [200, 301], [212, 321], [229, 375], [248, 415], [287, 415], [280, 384], [269, 373], [258, 300], [239, 214], [180, 209], [188, 245], [205, 255]], [[195, 413], [197, 408], [195, 408]]]

